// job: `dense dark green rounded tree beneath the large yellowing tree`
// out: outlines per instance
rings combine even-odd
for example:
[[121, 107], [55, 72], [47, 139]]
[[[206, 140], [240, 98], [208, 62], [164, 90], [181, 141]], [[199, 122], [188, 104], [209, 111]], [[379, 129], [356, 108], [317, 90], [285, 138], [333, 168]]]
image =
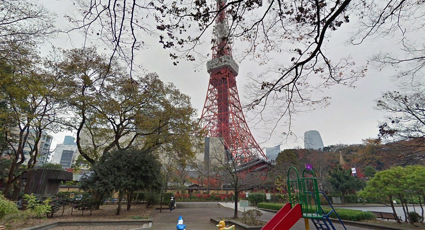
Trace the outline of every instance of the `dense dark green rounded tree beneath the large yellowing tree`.
[[[151, 151], [137, 147], [108, 151], [92, 167], [93, 173], [82, 180], [82, 188], [94, 188], [102, 193], [119, 193], [116, 214], [121, 210], [121, 199], [137, 190], [159, 191], [161, 189], [161, 164]], [[127, 210], [130, 206], [127, 206]]]

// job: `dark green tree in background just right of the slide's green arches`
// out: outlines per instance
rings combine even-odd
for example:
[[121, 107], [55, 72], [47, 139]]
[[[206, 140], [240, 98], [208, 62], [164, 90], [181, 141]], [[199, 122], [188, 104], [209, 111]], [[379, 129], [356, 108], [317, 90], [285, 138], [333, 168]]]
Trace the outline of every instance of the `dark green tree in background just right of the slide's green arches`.
[[360, 190], [365, 187], [365, 182], [358, 177], [351, 175], [350, 169], [343, 169], [340, 165], [329, 170], [329, 182], [334, 188], [341, 192], [341, 202], [344, 203], [344, 195], [350, 189]]

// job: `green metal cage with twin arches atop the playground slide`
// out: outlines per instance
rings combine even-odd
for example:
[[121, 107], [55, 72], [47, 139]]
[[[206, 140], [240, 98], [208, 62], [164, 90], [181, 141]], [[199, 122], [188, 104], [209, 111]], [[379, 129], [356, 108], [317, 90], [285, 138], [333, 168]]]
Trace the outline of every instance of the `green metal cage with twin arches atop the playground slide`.
[[[291, 174], [291, 172], [295, 171]], [[304, 168], [302, 177], [295, 167], [288, 170], [288, 196], [292, 207], [299, 203], [303, 212], [303, 218], [321, 219], [322, 208], [320, 208], [319, 189], [317, 178], [311, 168]], [[317, 199], [315, 199], [317, 197]]]

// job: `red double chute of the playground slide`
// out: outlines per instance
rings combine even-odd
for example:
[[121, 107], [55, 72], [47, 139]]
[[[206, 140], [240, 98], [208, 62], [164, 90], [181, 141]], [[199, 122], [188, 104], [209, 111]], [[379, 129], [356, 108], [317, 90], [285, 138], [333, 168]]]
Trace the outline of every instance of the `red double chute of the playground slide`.
[[286, 203], [261, 230], [289, 230], [301, 218], [301, 205]]

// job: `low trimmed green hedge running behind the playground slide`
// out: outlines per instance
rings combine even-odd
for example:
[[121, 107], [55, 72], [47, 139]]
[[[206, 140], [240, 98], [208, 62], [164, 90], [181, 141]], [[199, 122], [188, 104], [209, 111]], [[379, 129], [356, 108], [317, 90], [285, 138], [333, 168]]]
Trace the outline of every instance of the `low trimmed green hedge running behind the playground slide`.
[[[278, 203], [258, 203], [258, 208], [265, 208], [265, 209], [271, 209], [271, 210], [280, 210], [280, 208], [283, 207], [284, 204], [278, 204]], [[314, 210], [315, 211], [315, 210]], [[323, 211], [326, 213], [329, 213], [331, 211], [331, 208], [323, 208]], [[353, 209], [345, 209], [345, 208], [337, 208], [335, 211], [338, 213], [341, 219], [343, 220], [350, 220], [350, 221], [362, 221], [362, 220], [373, 220], [375, 219], [374, 214], [371, 212], [364, 212], [362, 210], [353, 210]], [[331, 213], [329, 215], [331, 218], [337, 218], [337, 215], [335, 213]]]

